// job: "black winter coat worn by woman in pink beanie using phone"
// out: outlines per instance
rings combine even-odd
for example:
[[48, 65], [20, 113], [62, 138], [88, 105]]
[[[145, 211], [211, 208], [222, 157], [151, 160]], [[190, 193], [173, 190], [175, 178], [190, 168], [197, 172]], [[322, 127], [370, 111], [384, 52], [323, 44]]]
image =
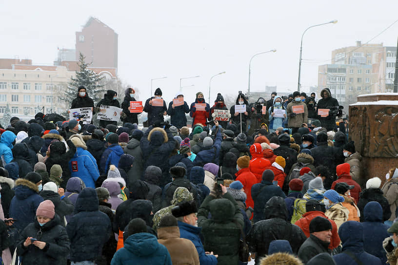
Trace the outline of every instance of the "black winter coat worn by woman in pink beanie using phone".
[[[34, 245], [23, 246], [28, 237], [45, 242], [46, 246], [43, 249]], [[20, 233], [20, 243], [17, 245], [18, 256], [22, 256], [23, 261], [26, 261], [27, 264], [33, 265], [66, 265], [69, 250], [68, 234], [60, 225], [60, 217], [57, 215], [42, 227], [37, 220], [29, 224]]]

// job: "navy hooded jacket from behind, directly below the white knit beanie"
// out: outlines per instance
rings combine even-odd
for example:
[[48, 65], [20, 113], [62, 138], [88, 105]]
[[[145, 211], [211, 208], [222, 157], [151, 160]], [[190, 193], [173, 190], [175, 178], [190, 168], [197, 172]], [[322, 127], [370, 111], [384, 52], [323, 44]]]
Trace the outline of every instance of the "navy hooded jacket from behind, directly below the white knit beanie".
[[378, 202], [369, 202], [363, 208], [363, 248], [369, 254], [378, 257], [386, 264], [387, 257], [383, 249], [383, 240], [390, 236], [389, 228], [383, 223], [383, 209]]

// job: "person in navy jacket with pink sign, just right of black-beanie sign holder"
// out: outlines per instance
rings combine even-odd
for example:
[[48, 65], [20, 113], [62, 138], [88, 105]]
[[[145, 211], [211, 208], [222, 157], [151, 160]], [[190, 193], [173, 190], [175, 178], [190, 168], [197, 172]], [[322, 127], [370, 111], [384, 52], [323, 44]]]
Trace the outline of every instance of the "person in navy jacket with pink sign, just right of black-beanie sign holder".
[[173, 101], [169, 103], [167, 115], [171, 117], [171, 124], [176, 126], [178, 129], [181, 129], [186, 126], [186, 113], [189, 113], [189, 107], [184, 101], [184, 95], [179, 92], [176, 94], [176, 97], [173, 98]]

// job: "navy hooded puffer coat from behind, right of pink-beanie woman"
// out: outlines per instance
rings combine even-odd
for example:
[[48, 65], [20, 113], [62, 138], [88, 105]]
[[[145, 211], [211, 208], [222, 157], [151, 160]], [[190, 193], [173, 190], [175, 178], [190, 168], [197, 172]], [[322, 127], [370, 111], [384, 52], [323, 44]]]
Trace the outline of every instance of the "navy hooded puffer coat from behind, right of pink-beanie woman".
[[98, 208], [95, 189], [83, 189], [76, 200], [75, 215], [66, 226], [71, 242], [71, 261], [94, 261], [101, 256], [102, 246], [109, 239], [111, 221]]

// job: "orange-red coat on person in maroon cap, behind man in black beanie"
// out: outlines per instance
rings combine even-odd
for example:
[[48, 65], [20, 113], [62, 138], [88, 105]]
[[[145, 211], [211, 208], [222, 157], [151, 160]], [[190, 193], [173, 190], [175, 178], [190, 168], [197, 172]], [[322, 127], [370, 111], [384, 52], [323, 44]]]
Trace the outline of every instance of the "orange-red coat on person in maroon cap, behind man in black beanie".
[[323, 212], [321, 211], [306, 212], [301, 216], [301, 219], [296, 221], [295, 225], [301, 228], [306, 237], [310, 237], [310, 223], [312, 219], [314, 219], [317, 216], [328, 219], [329, 222], [332, 224], [332, 237], [330, 238], [329, 249], [336, 248], [340, 244], [340, 237], [338, 236], [336, 223], [335, 221], [327, 218]]

